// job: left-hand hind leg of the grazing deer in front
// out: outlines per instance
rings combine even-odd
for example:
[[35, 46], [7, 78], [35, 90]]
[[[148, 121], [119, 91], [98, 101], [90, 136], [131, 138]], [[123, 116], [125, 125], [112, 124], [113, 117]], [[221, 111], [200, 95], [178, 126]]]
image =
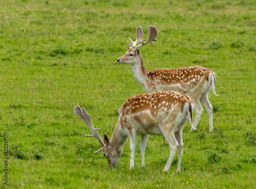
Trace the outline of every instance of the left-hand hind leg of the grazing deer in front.
[[176, 153], [176, 151], [179, 147], [179, 143], [177, 142], [177, 140], [175, 138], [173, 130], [171, 131], [171, 133], [166, 133], [166, 132], [164, 133], [163, 132], [163, 136], [164, 136], [165, 140], [168, 142], [168, 144], [170, 146], [170, 155], [169, 155], [167, 163], [166, 163], [166, 165], [163, 169], [163, 171], [167, 172], [167, 171], [169, 171], [170, 165], [173, 162], [175, 153]]

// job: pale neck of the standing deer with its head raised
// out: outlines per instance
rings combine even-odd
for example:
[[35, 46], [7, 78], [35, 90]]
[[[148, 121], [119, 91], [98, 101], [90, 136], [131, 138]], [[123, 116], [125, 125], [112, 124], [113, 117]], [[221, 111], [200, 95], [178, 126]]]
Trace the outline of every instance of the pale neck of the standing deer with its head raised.
[[142, 57], [140, 55], [139, 60], [131, 65], [134, 77], [143, 87], [146, 82], [146, 68], [143, 66]]

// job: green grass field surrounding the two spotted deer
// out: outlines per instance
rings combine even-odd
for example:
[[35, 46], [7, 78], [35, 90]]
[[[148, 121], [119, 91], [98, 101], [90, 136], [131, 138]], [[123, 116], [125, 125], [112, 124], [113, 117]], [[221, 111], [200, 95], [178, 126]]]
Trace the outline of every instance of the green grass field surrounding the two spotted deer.
[[[8, 133], [9, 188], [255, 188], [256, 2], [6, 0], [0, 3], [0, 158]], [[178, 153], [162, 172], [169, 146], [150, 136], [145, 167], [138, 138], [135, 169], [129, 140], [108, 169], [96, 139], [75, 115], [84, 106], [99, 134], [112, 136], [117, 110], [144, 93], [130, 66], [117, 59], [136, 27], [158, 29], [142, 47], [147, 69], [201, 65], [216, 73], [214, 128], [204, 111], [198, 130], [183, 132]], [[195, 113], [194, 113], [195, 117]]]

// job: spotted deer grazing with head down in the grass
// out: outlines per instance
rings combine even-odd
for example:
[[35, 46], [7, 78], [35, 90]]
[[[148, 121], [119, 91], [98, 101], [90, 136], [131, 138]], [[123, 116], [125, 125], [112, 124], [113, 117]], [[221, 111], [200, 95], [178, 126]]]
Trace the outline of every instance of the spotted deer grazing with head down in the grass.
[[91, 116], [84, 107], [75, 106], [76, 115], [91, 129], [92, 134], [87, 137], [95, 137], [101, 148], [94, 152], [104, 151], [108, 159], [109, 167], [116, 167], [122, 155], [122, 147], [130, 137], [131, 161], [130, 169], [134, 168], [134, 154], [137, 136], [141, 135], [140, 151], [141, 165], [145, 166], [144, 154], [148, 135], [163, 135], [170, 146], [170, 155], [163, 171], [168, 171], [178, 149], [178, 167], [180, 172], [182, 157], [182, 130], [189, 119], [193, 127], [192, 108], [193, 101], [187, 95], [176, 91], [160, 91], [144, 93], [128, 98], [120, 107], [120, 117], [117, 121], [112, 139], [104, 134], [104, 142], [98, 134], [98, 128], [91, 123]]

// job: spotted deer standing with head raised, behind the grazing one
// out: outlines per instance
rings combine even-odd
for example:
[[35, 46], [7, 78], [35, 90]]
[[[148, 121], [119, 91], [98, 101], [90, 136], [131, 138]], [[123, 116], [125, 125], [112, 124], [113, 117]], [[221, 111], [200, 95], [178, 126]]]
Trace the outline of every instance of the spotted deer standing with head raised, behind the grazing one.
[[[127, 41], [127, 52], [124, 56], [117, 59], [120, 64], [132, 64], [131, 69], [134, 73], [136, 80], [145, 88], [146, 92], [156, 91], [179, 91], [188, 95], [195, 103], [196, 119], [194, 121], [194, 127], [196, 128], [198, 122], [203, 114], [203, 108], [200, 104], [205, 106], [209, 115], [209, 131], [212, 131], [212, 105], [208, 100], [208, 93], [210, 90], [215, 93], [216, 78], [214, 72], [210, 69], [202, 66], [190, 66], [176, 69], [157, 69], [147, 70], [143, 66], [142, 57], [138, 48], [150, 43], [151, 41], [157, 41], [157, 29], [155, 26], [150, 25], [148, 39], [146, 42], [143, 37], [142, 27], [138, 26], [136, 41]], [[141, 43], [137, 45], [137, 43]], [[219, 96], [219, 95], [217, 95]], [[190, 131], [192, 131], [191, 128]]]

